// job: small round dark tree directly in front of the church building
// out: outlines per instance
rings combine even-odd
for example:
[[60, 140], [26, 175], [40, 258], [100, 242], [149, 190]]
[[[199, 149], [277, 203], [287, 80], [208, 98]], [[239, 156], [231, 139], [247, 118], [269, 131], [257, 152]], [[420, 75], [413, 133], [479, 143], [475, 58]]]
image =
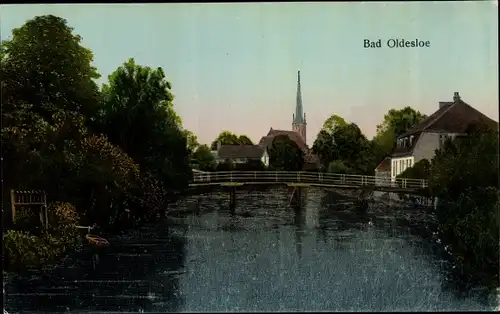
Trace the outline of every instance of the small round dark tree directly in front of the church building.
[[299, 171], [304, 166], [304, 153], [287, 135], [278, 135], [269, 151], [269, 164], [274, 170]]

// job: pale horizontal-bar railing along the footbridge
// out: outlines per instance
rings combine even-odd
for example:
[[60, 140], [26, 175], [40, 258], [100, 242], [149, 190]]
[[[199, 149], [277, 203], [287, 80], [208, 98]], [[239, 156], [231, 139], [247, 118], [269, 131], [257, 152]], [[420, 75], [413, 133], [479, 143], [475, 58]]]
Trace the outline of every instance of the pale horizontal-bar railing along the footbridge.
[[195, 173], [194, 183], [217, 182], [283, 182], [283, 183], [314, 183], [325, 185], [346, 186], [387, 186], [407, 189], [421, 189], [428, 186], [427, 180], [395, 179], [386, 177], [338, 174], [304, 171], [218, 171], [210, 173]]

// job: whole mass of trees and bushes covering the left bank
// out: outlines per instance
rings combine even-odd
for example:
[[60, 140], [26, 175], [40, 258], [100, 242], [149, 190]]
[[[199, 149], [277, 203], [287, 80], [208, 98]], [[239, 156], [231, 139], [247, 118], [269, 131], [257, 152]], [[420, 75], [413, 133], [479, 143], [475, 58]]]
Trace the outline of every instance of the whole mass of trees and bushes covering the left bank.
[[61, 208], [74, 212], [72, 219], [51, 218], [50, 232], [23, 219], [11, 226], [10, 265], [47, 260], [28, 252], [69, 241], [69, 229], [61, 228], [114, 228], [125, 212], [134, 223], [154, 217], [187, 186], [199, 144], [182, 127], [163, 69], [129, 59], [99, 89], [92, 52], [52, 15], [14, 29], [0, 58], [3, 205], [9, 208], [10, 190], [40, 189], [49, 202], [63, 202], [49, 207], [52, 216], [68, 218]]

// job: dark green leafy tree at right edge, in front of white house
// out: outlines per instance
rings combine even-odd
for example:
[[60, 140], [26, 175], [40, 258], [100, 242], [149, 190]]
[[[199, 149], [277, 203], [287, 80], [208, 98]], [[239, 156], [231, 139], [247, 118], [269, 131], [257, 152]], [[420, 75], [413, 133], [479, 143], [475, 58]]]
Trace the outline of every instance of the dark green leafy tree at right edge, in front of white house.
[[461, 282], [498, 286], [498, 130], [471, 128], [448, 140], [431, 161], [429, 187]]

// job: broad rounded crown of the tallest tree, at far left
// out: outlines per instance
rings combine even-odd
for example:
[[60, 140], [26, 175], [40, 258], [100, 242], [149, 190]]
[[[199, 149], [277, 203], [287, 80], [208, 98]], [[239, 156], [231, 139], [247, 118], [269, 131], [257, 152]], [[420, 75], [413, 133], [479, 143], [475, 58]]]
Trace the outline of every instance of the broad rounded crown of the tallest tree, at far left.
[[66, 20], [38, 16], [12, 32], [2, 43], [2, 104], [11, 111], [16, 104], [32, 104], [50, 121], [57, 110], [91, 117], [99, 104], [92, 67], [93, 55], [80, 45]]

